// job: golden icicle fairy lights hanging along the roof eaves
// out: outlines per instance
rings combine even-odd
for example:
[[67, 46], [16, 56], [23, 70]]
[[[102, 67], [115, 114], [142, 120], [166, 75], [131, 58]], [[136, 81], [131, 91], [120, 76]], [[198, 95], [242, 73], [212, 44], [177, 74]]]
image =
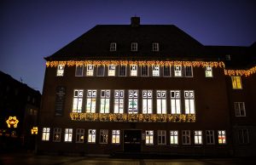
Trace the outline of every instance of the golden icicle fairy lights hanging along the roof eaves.
[[162, 60], [67, 60], [67, 61], [47, 61], [47, 67], [56, 67], [57, 65], [192, 65], [193, 67], [219, 67], [224, 68], [226, 76], [245, 76], [256, 73], [256, 66], [248, 70], [227, 70], [223, 61], [162, 61]]

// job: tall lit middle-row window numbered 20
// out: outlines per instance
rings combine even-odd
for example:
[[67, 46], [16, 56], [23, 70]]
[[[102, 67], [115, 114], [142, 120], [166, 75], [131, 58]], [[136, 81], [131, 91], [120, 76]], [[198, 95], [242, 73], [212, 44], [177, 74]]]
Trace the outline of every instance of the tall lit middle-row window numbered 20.
[[143, 114], [152, 113], [152, 90], [143, 90]]

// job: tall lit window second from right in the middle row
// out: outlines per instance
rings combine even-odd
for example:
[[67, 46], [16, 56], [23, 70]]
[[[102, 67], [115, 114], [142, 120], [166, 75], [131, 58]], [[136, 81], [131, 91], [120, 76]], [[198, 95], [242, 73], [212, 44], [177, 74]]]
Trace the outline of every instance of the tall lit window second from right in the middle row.
[[180, 114], [180, 91], [171, 90], [171, 113]]

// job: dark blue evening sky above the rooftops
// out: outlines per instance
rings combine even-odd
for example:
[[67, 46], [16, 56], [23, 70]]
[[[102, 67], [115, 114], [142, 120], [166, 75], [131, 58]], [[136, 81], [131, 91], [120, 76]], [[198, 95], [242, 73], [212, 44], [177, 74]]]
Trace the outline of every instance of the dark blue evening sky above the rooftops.
[[0, 71], [42, 91], [44, 57], [99, 24], [176, 25], [204, 45], [256, 42], [254, 0], [1, 0]]

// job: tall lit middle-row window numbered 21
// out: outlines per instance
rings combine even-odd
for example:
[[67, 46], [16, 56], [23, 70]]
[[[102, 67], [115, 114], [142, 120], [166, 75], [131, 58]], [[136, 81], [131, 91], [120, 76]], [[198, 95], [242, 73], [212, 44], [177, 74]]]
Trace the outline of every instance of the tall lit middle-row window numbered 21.
[[114, 90], [113, 113], [124, 113], [124, 90]]

